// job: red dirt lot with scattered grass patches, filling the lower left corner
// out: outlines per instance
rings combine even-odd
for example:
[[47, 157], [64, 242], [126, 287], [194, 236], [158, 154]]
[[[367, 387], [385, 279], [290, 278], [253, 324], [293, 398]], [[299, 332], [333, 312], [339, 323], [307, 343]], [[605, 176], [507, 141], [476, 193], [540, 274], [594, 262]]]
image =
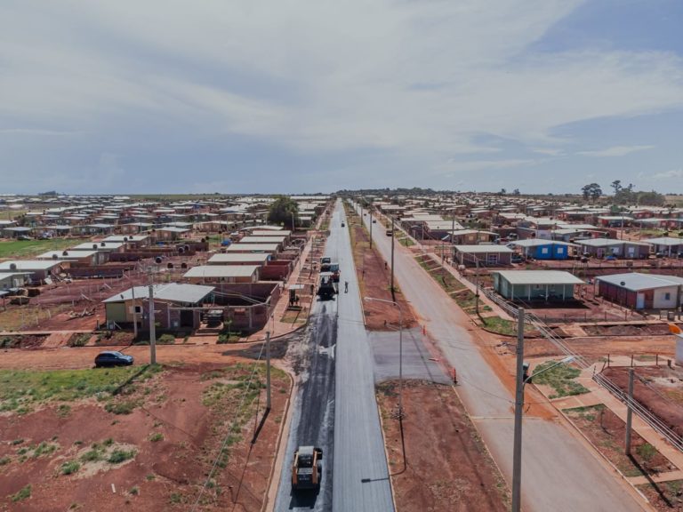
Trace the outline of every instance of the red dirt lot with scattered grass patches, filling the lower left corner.
[[[285, 373], [274, 372], [273, 409], [251, 444], [257, 400], [261, 408], [264, 401], [260, 373], [246, 390], [252, 364], [167, 365], [118, 396], [92, 381], [119, 370], [127, 369], [59, 377], [4, 371], [0, 509], [186, 510], [218, 460], [198, 509], [261, 510], [290, 388]], [[33, 384], [30, 397], [8, 385], [18, 378]], [[67, 384], [46, 388], [50, 382]]]

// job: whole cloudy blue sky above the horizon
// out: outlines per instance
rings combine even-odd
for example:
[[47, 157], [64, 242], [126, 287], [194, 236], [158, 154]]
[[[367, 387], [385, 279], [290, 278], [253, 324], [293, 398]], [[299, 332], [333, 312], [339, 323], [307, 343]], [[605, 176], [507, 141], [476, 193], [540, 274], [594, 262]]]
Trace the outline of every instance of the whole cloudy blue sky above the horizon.
[[0, 194], [683, 193], [679, 0], [4, 0]]

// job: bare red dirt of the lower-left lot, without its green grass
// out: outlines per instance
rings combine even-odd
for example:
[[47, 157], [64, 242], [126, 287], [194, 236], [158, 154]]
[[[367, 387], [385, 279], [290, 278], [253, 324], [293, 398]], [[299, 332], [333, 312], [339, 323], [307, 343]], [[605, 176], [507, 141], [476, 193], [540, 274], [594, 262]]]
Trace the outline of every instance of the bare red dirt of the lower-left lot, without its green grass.
[[[77, 504], [77, 509], [102, 512], [187, 509], [205, 482], [237, 403], [236, 396], [228, 397], [219, 408], [202, 404], [203, 391], [224, 380], [220, 374], [207, 378], [207, 372], [234, 363], [226, 358], [223, 364], [165, 367], [165, 372], [136, 384], [133, 395], [120, 398], [137, 398], [143, 404], [127, 415], [106, 412], [92, 399], [68, 403], [71, 410], [66, 417], [57, 414], [57, 404], [24, 416], [4, 413], [0, 416], [0, 458], [12, 460], [0, 466], [0, 509], [66, 510], [72, 504]], [[241, 439], [229, 448], [226, 467], [214, 476], [215, 486], [205, 492], [198, 510], [261, 510], [290, 380], [276, 373], [273, 388], [273, 409], [258, 441], [250, 443], [254, 421], [247, 420]], [[164, 438], [152, 442], [150, 435], [157, 432]], [[71, 476], [60, 475], [65, 460], [75, 460], [84, 447], [108, 437], [116, 444], [134, 446], [134, 460], [117, 467], [102, 463], [103, 470], [92, 476], [86, 475], [84, 468]], [[24, 441], [12, 445], [15, 439]], [[18, 460], [16, 452], [22, 446], [43, 441], [59, 444], [59, 448], [46, 457]], [[9, 497], [26, 484], [32, 485], [31, 497], [12, 503]]]

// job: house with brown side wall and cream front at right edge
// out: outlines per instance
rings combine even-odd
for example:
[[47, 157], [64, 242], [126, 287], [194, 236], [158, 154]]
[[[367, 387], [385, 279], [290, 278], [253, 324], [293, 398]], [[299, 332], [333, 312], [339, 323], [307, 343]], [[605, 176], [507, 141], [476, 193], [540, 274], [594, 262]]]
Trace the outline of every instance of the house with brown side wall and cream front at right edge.
[[627, 272], [595, 278], [598, 294], [631, 309], [679, 308], [683, 278]]

